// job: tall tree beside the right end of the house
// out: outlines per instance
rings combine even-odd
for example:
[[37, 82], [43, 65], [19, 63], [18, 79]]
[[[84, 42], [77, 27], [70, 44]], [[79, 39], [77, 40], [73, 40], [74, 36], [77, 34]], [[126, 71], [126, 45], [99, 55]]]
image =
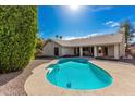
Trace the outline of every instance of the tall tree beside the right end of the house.
[[131, 24], [130, 20], [125, 20], [124, 22], [121, 23], [121, 28], [125, 29], [125, 51], [127, 55], [127, 50], [128, 50], [128, 45], [133, 40], [135, 28]]

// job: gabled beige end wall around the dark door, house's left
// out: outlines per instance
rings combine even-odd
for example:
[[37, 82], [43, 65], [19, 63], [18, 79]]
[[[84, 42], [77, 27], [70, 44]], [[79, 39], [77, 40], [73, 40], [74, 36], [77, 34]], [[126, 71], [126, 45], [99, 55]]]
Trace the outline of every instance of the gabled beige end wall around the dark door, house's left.
[[48, 41], [48, 43], [44, 47], [44, 55], [53, 56], [54, 47], [59, 48], [59, 55], [62, 55], [61, 46], [53, 41]]

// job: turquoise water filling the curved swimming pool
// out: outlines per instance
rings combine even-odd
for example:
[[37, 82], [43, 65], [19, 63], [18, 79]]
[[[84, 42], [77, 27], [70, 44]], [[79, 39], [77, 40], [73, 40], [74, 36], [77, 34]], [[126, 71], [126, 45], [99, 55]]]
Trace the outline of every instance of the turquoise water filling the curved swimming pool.
[[48, 66], [47, 79], [66, 89], [100, 89], [112, 83], [112, 77], [86, 59], [60, 59]]

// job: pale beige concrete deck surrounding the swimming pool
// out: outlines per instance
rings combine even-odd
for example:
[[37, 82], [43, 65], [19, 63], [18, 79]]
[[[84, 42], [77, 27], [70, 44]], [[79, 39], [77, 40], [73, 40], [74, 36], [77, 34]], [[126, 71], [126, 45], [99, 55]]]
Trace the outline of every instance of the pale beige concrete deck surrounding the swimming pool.
[[112, 85], [98, 90], [69, 90], [51, 85], [46, 79], [45, 70], [56, 63], [52, 60], [33, 70], [24, 88], [29, 96], [135, 96], [135, 65], [124, 62], [91, 60], [90, 62], [106, 70], [114, 79]]

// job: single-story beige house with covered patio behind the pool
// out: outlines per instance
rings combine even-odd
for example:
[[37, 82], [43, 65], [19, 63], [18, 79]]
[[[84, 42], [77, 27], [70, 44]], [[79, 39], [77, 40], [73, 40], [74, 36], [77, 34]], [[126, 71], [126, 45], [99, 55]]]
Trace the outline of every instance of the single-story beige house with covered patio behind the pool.
[[100, 35], [89, 38], [72, 40], [49, 39], [44, 46], [44, 55], [123, 58], [125, 56], [124, 28], [121, 28], [116, 34]]

